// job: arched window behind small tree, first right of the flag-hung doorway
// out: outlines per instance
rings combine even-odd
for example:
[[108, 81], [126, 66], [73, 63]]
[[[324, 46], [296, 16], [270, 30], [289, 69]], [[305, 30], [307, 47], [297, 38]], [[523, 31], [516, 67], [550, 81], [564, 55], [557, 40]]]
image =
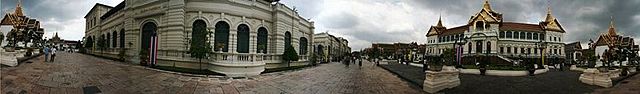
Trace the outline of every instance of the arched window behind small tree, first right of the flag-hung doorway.
[[[191, 46], [190, 49], [198, 49], [196, 47], [200, 47], [207, 43], [207, 23], [203, 20], [196, 20], [191, 25]], [[209, 45], [205, 45], [209, 46]]]

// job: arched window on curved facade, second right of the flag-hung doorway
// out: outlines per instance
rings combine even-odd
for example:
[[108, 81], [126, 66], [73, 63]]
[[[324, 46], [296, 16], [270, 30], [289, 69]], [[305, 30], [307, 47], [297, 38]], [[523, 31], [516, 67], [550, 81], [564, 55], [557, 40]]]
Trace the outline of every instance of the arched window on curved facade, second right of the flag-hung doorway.
[[214, 50], [223, 52], [229, 51], [229, 24], [227, 22], [216, 23]]

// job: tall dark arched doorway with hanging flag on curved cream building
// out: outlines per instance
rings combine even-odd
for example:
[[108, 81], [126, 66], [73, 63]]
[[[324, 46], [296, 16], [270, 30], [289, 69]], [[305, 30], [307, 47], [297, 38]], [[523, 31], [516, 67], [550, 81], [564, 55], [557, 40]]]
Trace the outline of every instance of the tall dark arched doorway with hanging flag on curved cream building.
[[149, 64], [156, 64], [156, 49], [157, 49], [157, 33], [158, 27], [153, 22], [147, 22], [142, 25], [142, 34], [140, 39], [140, 53], [145, 55], [149, 59]]

